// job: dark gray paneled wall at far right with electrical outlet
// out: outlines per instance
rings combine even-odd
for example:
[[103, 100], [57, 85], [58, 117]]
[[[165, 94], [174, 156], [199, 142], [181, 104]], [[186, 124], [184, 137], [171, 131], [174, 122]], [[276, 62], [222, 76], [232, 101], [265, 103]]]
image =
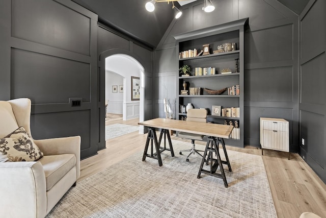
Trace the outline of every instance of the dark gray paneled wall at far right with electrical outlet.
[[326, 2], [310, 1], [300, 15], [300, 155], [326, 182]]

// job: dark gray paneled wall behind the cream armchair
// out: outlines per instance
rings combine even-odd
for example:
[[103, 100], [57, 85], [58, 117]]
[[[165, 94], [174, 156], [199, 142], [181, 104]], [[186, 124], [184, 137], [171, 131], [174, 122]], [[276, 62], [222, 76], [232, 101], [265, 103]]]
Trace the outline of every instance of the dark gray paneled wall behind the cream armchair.
[[0, 99], [32, 100], [34, 138], [80, 135], [81, 157], [96, 154], [97, 15], [64, 0], [5, 0], [0, 14]]

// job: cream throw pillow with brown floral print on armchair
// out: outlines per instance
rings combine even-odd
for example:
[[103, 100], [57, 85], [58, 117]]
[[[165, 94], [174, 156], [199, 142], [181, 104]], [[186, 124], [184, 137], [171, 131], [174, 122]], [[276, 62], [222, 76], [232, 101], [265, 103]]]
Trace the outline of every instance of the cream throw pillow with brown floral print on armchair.
[[0, 138], [0, 162], [35, 161], [41, 157], [43, 152], [23, 127]]

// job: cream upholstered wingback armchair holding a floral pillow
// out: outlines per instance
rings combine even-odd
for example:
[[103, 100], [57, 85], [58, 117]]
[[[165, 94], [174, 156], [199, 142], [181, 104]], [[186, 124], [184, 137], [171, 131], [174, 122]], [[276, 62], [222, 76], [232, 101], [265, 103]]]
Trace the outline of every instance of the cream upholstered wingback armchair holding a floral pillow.
[[[0, 138], [30, 129], [31, 101], [0, 101]], [[0, 217], [44, 217], [80, 175], [80, 137], [34, 140], [37, 161], [0, 162]], [[1, 151], [0, 151], [1, 152]]]

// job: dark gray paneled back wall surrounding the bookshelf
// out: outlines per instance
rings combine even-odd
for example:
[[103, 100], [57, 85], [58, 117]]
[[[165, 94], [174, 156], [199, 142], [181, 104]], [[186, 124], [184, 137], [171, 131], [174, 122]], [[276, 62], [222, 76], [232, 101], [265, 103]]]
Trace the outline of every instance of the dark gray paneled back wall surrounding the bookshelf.
[[182, 17], [172, 21], [155, 50], [154, 116], [164, 117], [162, 99], [176, 98], [177, 57], [172, 36], [249, 17], [244, 36], [244, 143], [260, 145], [259, 117], [285, 118], [290, 123], [290, 151], [297, 152], [298, 16], [272, 0], [212, 3], [212, 13], [202, 11], [202, 1], [184, 6]]

